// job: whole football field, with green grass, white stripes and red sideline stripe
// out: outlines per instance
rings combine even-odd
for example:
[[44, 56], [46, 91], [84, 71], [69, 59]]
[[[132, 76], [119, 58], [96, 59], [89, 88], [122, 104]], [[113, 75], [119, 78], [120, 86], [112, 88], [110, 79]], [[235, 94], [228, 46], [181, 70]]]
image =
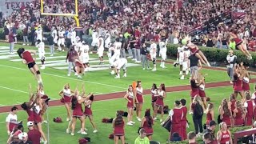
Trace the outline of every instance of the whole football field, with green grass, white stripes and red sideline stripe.
[[[15, 50], [18, 50], [21, 45], [15, 45]], [[26, 49], [35, 49], [33, 46], [24, 46]], [[112, 133], [112, 125], [102, 123], [102, 118], [115, 118], [115, 112], [117, 110], [126, 111], [126, 100], [122, 97], [123, 93], [132, 82], [141, 80], [142, 87], [144, 90], [150, 89], [152, 83], [156, 83], [159, 86], [160, 83], [165, 83], [167, 89], [167, 98], [164, 100], [165, 105], [170, 108], [174, 106], [174, 101], [186, 98], [187, 106], [190, 102], [190, 86], [189, 80], [180, 80], [179, 68], [174, 67], [172, 64], [166, 64], [166, 69], [159, 67], [158, 70], [152, 72], [151, 70], [142, 70], [141, 64], [128, 61], [127, 78], [115, 79], [114, 75], [110, 74], [107, 58], [105, 59], [104, 65], [98, 65], [99, 61], [96, 54], [90, 54], [90, 71], [87, 72], [83, 78], [78, 79], [74, 76], [74, 73], [70, 77], [67, 76], [68, 63], [66, 60], [66, 51], [58, 52], [54, 56], [50, 57], [49, 50], [46, 49], [46, 69], [40, 70], [42, 74], [42, 80], [44, 83], [44, 91], [51, 98], [53, 102], [50, 102], [50, 108], [48, 109], [49, 114], [49, 125], [50, 125], [50, 143], [78, 143], [78, 139], [84, 137], [81, 134], [75, 134], [71, 136], [66, 134], [66, 109], [59, 102], [60, 96], [58, 92], [62, 90], [64, 84], [70, 83], [71, 90], [74, 90], [77, 83], [80, 85], [84, 82], [86, 86], [86, 94], [93, 92], [96, 95], [96, 100], [92, 105], [94, 114], [94, 122], [98, 127], [98, 133], [94, 134], [93, 128], [90, 125], [88, 119], [86, 119], [86, 128], [88, 134], [86, 137], [90, 137], [90, 143], [94, 144], [111, 144], [113, 140], [108, 138], [108, 135]], [[40, 61], [37, 60], [40, 67]], [[152, 62], [150, 62], [152, 67]], [[206, 94], [211, 98], [211, 102], [215, 104], [215, 117], [218, 116], [218, 106], [222, 98], [228, 98], [232, 92], [232, 86], [230, 86], [229, 78], [226, 74], [225, 69], [203, 69], [203, 74], [206, 76]], [[0, 43], [0, 143], [6, 143], [6, 124], [5, 118], [7, 113], [6, 106], [20, 105], [22, 102], [26, 102], [29, 98], [29, 84], [32, 85], [33, 90], [36, 90], [37, 82], [34, 76], [30, 73], [27, 66], [22, 63], [21, 58], [18, 54], [9, 54], [9, 44]], [[122, 76], [122, 70], [121, 70]], [[252, 76], [251, 82], [254, 82], [254, 76]], [[214, 83], [213, 83], [214, 82]], [[253, 84], [251, 84], [251, 90], [253, 90]], [[149, 94], [148, 91], [145, 91]], [[98, 98], [97, 98], [98, 97]], [[145, 104], [143, 105], [142, 115], [146, 108], [151, 108], [150, 95], [145, 96]], [[167, 115], [165, 115], [166, 118]], [[61, 117], [62, 123], [53, 122], [53, 118]], [[192, 116], [188, 115], [190, 122], [190, 130], [194, 130]], [[26, 112], [18, 111], [18, 121], [26, 123]], [[125, 118], [126, 120], [126, 118]], [[140, 123], [137, 121], [134, 115], [134, 126], [126, 126], [126, 142], [129, 144], [134, 143], [134, 139], [138, 137], [137, 131]], [[205, 119], [203, 120], [205, 122]], [[79, 130], [80, 122], [77, 122], [76, 131]], [[46, 124], [43, 124], [46, 133]], [[26, 125], [24, 125], [26, 130]], [[47, 134], [47, 133], [46, 133]], [[160, 126], [160, 122], [154, 122], [154, 134], [153, 139], [155, 141], [165, 143], [169, 133]]]

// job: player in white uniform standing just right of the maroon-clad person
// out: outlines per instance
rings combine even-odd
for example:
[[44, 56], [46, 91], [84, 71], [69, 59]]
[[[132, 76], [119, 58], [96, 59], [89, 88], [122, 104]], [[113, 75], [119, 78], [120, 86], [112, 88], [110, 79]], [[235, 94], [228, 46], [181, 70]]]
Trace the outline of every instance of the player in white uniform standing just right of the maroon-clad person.
[[80, 50], [79, 50], [79, 55], [82, 57], [82, 63], [84, 64], [85, 66], [85, 71], [89, 71], [89, 45], [86, 44], [85, 41], [82, 41], [82, 46], [80, 47]]

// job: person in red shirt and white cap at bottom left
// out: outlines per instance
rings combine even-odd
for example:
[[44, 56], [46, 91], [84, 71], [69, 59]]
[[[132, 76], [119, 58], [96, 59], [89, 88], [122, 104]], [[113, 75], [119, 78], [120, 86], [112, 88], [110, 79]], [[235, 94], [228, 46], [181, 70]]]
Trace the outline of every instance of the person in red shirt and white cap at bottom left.
[[28, 134], [28, 140], [31, 141], [33, 144], [40, 144], [40, 138], [41, 138], [41, 133], [39, 130], [34, 129], [34, 123], [33, 122], [27, 122], [27, 126], [29, 131], [27, 132]]

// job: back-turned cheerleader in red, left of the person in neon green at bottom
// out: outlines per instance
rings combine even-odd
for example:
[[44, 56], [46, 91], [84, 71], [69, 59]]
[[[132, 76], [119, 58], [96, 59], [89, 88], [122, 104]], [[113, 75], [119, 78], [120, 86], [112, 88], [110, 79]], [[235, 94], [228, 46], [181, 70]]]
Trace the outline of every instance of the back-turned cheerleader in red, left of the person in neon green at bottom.
[[114, 144], [118, 144], [118, 139], [121, 139], [122, 144], [125, 144], [125, 121], [122, 118], [121, 111], [117, 112], [117, 118], [113, 119], [113, 135], [114, 135]]

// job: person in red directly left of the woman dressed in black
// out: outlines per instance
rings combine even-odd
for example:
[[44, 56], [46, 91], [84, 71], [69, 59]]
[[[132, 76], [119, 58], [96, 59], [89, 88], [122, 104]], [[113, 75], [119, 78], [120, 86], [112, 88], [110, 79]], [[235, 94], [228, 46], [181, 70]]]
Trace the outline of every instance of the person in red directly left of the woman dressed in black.
[[182, 121], [181, 121], [181, 125], [182, 125], [182, 140], [186, 140], [186, 127], [188, 125], [188, 121], [186, 119], [186, 114], [187, 114], [187, 108], [186, 108], [186, 100], [185, 99], [181, 99], [181, 109], [182, 109]]

